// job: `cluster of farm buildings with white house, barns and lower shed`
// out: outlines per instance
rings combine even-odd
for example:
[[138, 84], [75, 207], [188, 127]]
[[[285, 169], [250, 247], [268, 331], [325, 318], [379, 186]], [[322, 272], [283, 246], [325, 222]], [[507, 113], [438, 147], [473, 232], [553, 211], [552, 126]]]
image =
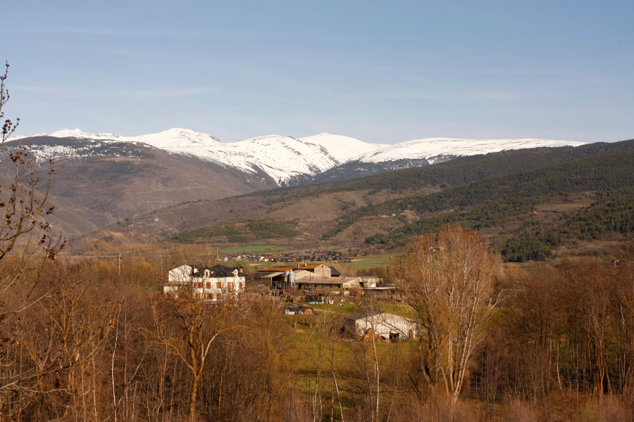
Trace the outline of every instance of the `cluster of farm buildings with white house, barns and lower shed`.
[[[312, 315], [311, 305], [344, 305], [379, 296], [380, 301], [399, 302], [397, 289], [385, 285], [379, 276], [343, 276], [332, 267], [330, 261], [339, 254], [316, 253], [311, 255], [236, 255], [225, 261], [279, 262], [263, 267], [253, 274], [245, 274], [243, 267], [199, 268], [184, 264], [168, 272], [163, 293], [179, 295], [187, 290], [210, 306], [228, 302], [240, 303], [245, 299], [277, 300], [286, 302], [281, 310], [285, 315]], [[298, 259], [305, 260], [299, 261]], [[316, 261], [328, 260], [328, 263]], [[416, 324], [402, 316], [368, 312], [347, 316], [342, 331], [356, 337], [375, 335], [383, 340], [412, 338], [420, 334]]]

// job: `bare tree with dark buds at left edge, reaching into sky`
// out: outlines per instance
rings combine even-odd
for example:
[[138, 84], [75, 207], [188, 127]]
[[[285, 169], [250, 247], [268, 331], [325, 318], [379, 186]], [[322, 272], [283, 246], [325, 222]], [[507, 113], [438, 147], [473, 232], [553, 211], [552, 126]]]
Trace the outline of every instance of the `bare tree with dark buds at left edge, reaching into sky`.
[[[0, 75], [0, 146], [15, 132], [19, 122], [19, 119], [15, 123], [5, 119], [4, 106], [9, 99], [5, 87], [7, 75], [8, 63], [4, 75]], [[3, 357], [15, 355], [12, 349], [23, 344], [22, 333], [12, 328], [15, 320], [50, 293], [50, 289], [38, 286], [37, 271], [29, 271], [41, 268], [47, 258], [54, 259], [65, 243], [61, 234], [54, 234], [51, 224], [46, 221], [46, 215], [53, 211], [48, 202], [51, 180], [56, 172], [54, 163], [49, 161], [48, 181], [42, 185], [35, 175], [35, 155], [27, 148], [19, 145], [10, 158], [14, 170], [8, 179], [8, 189], [0, 186], [0, 335], [11, 339], [0, 342], [0, 356]], [[25, 277], [25, 274], [29, 276]], [[33, 378], [28, 371], [7, 368], [0, 375], [0, 393], [20, 388], [33, 390], [39, 382], [39, 378]]]

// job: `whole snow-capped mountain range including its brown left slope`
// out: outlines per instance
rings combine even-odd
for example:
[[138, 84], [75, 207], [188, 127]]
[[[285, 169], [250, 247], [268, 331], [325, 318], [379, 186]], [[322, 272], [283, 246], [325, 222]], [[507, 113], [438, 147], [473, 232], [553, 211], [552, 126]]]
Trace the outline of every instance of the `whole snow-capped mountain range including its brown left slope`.
[[[51, 193], [56, 225], [71, 238], [179, 203], [420, 167], [477, 153], [578, 144], [537, 139], [419, 139], [383, 145], [332, 134], [269, 135], [225, 143], [209, 134], [178, 128], [141, 136], [63, 129], [20, 141], [38, 162], [52, 159], [61, 166]], [[8, 153], [20, 141], [8, 141], [0, 151], [4, 174], [11, 172]], [[42, 179], [44, 168], [38, 170]], [[340, 200], [347, 202], [345, 196]], [[305, 210], [297, 212], [303, 217]], [[188, 226], [186, 216], [179, 218], [183, 224], [175, 226]]]

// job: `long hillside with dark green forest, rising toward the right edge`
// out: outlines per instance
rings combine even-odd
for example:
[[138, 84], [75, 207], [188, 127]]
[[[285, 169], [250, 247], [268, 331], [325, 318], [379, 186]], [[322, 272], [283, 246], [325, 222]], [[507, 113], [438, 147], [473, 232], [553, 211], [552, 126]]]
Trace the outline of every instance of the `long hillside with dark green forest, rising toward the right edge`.
[[[630, 234], [633, 150], [634, 141], [623, 141], [504, 151], [363, 179], [255, 192], [229, 198], [223, 206], [179, 205], [171, 218], [180, 219], [184, 229], [172, 236], [220, 245], [315, 245], [321, 236], [323, 245], [394, 250], [454, 223], [482, 231], [504, 260], [543, 260], [570, 242]], [[195, 219], [184, 216], [194, 207], [201, 215], [205, 209], [218, 212], [211, 214], [211, 224], [192, 227]], [[228, 207], [229, 213], [223, 211]], [[286, 229], [254, 231], [255, 221]]]

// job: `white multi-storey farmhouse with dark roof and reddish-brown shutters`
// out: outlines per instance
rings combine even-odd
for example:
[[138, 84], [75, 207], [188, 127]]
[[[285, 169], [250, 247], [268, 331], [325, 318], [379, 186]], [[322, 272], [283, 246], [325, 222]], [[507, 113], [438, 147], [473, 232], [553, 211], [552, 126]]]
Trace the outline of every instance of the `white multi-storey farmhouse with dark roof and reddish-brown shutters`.
[[198, 269], [181, 265], [168, 272], [163, 293], [178, 294], [178, 290], [191, 288], [192, 294], [211, 302], [223, 302], [244, 298], [246, 279], [242, 269], [214, 265]]

